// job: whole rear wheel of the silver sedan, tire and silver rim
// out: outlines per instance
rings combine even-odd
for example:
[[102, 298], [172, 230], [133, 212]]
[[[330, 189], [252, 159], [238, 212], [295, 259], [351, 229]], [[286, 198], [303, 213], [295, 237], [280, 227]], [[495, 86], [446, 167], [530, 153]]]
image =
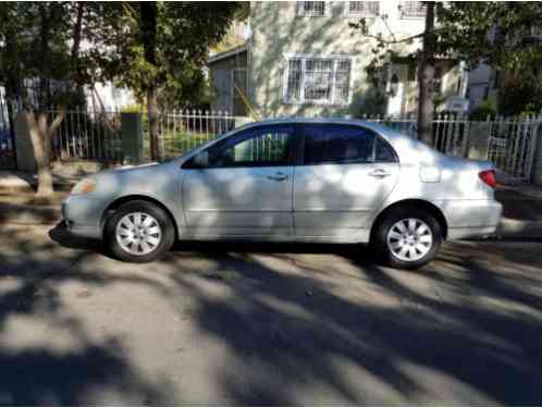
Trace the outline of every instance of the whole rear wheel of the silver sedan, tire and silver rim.
[[439, 221], [415, 208], [392, 210], [378, 225], [372, 244], [379, 259], [402, 269], [415, 269], [430, 262], [442, 243]]

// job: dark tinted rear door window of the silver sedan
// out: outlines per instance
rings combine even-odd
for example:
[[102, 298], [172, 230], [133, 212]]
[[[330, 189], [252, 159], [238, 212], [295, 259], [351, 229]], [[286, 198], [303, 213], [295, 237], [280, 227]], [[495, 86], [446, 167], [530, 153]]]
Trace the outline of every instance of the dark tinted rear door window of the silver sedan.
[[304, 125], [304, 164], [372, 163], [377, 135], [362, 127]]

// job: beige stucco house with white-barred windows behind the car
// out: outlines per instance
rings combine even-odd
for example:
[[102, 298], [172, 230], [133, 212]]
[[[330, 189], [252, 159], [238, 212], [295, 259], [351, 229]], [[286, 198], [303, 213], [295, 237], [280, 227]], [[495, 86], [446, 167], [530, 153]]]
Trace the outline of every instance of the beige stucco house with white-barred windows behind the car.
[[[373, 83], [366, 69], [377, 41], [349, 23], [365, 17], [369, 35], [399, 39], [421, 33], [423, 15], [422, 3], [416, 1], [251, 2], [246, 59], [236, 53], [235, 70], [246, 70], [247, 99], [261, 116], [414, 114], [417, 61], [402, 55], [420, 48], [420, 39], [397, 45], [398, 57], [386, 61]], [[230, 59], [223, 54], [210, 63], [217, 94], [222, 95], [215, 108], [233, 109], [235, 90], [224, 97], [224, 85], [217, 81], [233, 82], [234, 74], [222, 69]], [[444, 108], [446, 98], [465, 91], [465, 76], [459, 65], [444, 60], [438, 63], [436, 76], [436, 99]]]

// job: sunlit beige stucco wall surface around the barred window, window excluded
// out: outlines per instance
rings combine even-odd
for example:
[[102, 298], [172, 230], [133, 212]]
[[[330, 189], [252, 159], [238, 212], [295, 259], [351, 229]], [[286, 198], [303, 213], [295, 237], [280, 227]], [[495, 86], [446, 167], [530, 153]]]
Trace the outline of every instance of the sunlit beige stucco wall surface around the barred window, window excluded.
[[[296, 2], [252, 2], [250, 26], [252, 35], [249, 47], [250, 99], [262, 116], [268, 115], [335, 115], [356, 114], [365, 109], [371, 85], [367, 81], [366, 67], [372, 59], [375, 41], [355, 33], [348, 23], [358, 17], [345, 16], [346, 2], [333, 1], [327, 16], [297, 16]], [[387, 24], [396, 37], [418, 34], [423, 30], [423, 18], [402, 18], [399, 1], [380, 2], [380, 14], [387, 14]], [[370, 33], [387, 33], [381, 18], [367, 18]], [[396, 50], [403, 54], [420, 47], [420, 41], [401, 45]], [[287, 104], [283, 102], [283, 81], [286, 54], [347, 54], [353, 57], [353, 92], [349, 106]], [[401, 81], [407, 81], [407, 66], [399, 69]], [[447, 71], [443, 78], [444, 91], [453, 95], [459, 72]], [[403, 113], [416, 109], [417, 84], [405, 86], [406, 107]], [[405, 104], [405, 102], [401, 102]]]

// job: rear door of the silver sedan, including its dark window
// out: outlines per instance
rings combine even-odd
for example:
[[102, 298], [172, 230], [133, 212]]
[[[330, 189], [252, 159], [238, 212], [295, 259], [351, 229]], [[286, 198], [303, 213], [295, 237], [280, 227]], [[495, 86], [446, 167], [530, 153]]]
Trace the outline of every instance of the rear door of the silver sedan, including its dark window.
[[398, 176], [393, 148], [374, 132], [343, 124], [305, 124], [295, 168], [298, 237], [356, 239]]

